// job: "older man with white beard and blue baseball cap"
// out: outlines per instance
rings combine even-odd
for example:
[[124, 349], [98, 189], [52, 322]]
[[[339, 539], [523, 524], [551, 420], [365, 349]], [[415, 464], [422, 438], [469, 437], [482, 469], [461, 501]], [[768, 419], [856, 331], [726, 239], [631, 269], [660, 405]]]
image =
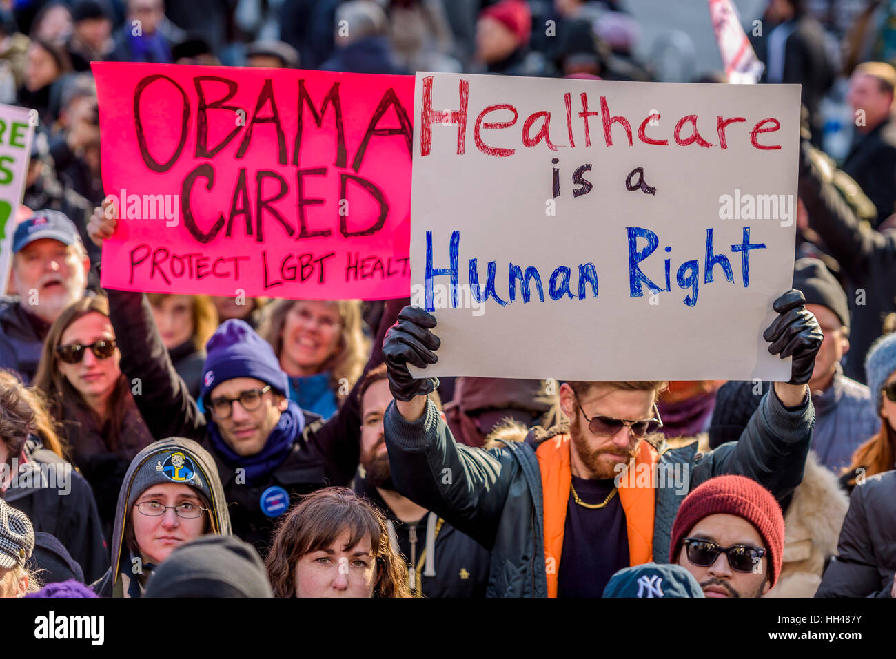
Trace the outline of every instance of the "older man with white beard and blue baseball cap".
[[71, 219], [38, 210], [15, 229], [10, 286], [0, 298], [0, 368], [30, 384], [47, 330], [84, 295], [90, 260]]

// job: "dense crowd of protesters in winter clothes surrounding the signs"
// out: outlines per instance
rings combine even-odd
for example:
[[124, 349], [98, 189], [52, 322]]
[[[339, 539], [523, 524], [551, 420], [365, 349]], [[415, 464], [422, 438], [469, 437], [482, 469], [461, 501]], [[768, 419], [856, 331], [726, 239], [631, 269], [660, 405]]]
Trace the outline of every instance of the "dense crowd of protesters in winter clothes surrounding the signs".
[[802, 84], [781, 382], [440, 381], [409, 370], [442, 346], [409, 300], [99, 285], [90, 63], [655, 80], [625, 2], [0, 10], [0, 102], [39, 117], [0, 299], [0, 596], [896, 596], [896, 6], [828, 5], [747, 32], [760, 83]]

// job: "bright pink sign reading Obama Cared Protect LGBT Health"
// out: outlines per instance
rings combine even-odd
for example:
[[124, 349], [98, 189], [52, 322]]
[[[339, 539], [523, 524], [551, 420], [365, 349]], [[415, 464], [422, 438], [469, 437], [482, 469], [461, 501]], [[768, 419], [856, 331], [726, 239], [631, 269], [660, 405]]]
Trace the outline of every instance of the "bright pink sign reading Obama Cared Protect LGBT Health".
[[92, 68], [120, 218], [103, 287], [409, 295], [413, 76]]

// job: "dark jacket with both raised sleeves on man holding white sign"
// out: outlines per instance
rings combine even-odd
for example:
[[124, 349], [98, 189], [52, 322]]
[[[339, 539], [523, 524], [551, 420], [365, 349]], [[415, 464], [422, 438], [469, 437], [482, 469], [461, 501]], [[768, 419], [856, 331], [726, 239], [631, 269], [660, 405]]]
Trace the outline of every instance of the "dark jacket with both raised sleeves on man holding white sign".
[[[687, 478], [686, 490], [712, 476], [739, 474], [753, 478], [780, 501], [803, 479], [814, 417], [810, 398], [789, 409], [772, 389], [762, 397], [740, 441], [705, 454], [696, 452], [696, 442], [680, 449], [660, 445], [660, 465], [677, 466], [676, 473]], [[544, 499], [535, 451], [552, 432], [536, 426], [526, 441], [505, 442], [503, 449], [474, 449], [454, 441], [432, 401], [426, 401], [424, 414], [410, 424], [392, 403], [383, 425], [395, 489], [491, 551], [486, 595], [547, 597]], [[686, 493], [657, 488], [656, 562], [668, 563], [672, 523]]]

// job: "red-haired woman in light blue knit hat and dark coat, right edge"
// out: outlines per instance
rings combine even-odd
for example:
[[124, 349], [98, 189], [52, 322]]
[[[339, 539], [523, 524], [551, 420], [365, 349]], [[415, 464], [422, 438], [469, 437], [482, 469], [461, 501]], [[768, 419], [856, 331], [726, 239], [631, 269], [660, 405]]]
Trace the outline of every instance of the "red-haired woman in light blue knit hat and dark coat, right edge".
[[849, 511], [816, 597], [896, 597], [896, 333], [872, 345], [865, 371], [881, 432], [857, 449], [844, 475], [853, 485]]

